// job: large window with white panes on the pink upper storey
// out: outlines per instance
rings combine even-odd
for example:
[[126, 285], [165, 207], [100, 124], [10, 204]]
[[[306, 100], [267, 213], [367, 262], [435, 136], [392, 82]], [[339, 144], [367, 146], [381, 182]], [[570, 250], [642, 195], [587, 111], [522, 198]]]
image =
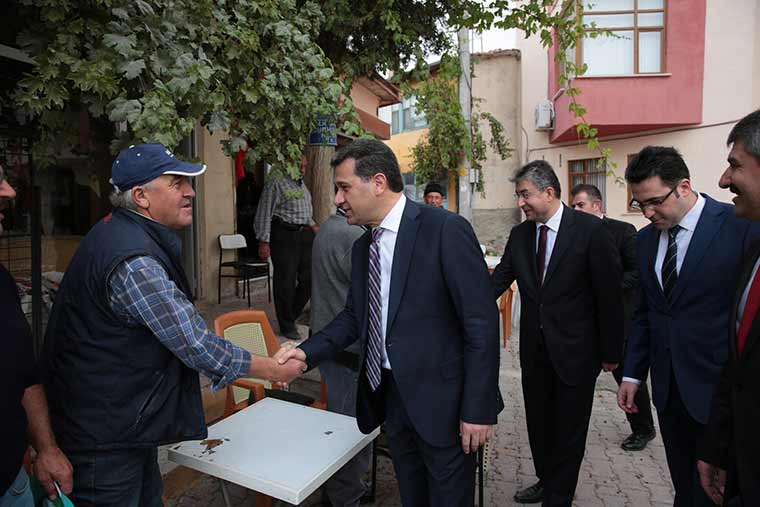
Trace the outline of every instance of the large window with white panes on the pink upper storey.
[[665, 0], [582, 1], [583, 24], [613, 34], [583, 37], [569, 51], [570, 61], [588, 66], [585, 76], [664, 72]]

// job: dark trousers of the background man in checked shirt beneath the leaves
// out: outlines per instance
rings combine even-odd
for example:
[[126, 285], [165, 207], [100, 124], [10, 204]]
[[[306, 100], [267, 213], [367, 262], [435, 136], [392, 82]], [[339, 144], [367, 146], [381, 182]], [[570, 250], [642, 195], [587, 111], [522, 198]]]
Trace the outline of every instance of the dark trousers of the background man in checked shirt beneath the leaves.
[[274, 309], [280, 334], [296, 330], [296, 319], [311, 296], [311, 244], [314, 232], [306, 225], [272, 221], [270, 250], [274, 274]]

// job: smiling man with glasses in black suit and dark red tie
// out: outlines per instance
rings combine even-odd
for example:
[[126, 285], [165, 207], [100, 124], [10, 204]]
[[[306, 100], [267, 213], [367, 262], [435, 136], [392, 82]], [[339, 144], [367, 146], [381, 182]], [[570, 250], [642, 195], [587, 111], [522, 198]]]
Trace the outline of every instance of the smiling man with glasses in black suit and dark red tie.
[[623, 355], [620, 259], [601, 220], [562, 204], [548, 163], [528, 163], [513, 181], [528, 220], [512, 229], [491, 280], [496, 298], [515, 279], [520, 288], [520, 367], [539, 479], [515, 501], [570, 506], [596, 378]]

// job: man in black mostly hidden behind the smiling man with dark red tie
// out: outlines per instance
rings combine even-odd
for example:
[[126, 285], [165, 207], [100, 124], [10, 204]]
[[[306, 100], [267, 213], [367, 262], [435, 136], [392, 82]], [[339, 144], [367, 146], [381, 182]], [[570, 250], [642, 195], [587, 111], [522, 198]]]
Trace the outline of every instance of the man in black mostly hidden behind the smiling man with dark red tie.
[[[574, 210], [583, 211], [602, 219], [602, 223], [615, 240], [615, 247], [623, 265], [623, 308], [625, 310], [623, 337], [627, 339], [631, 329], [633, 305], [636, 302], [639, 290], [639, 268], [636, 264], [636, 228], [628, 222], [615, 220], [602, 214], [602, 193], [594, 185], [578, 184], [570, 190], [570, 197], [570, 204]], [[623, 369], [615, 368], [612, 376], [619, 386], [623, 381]], [[636, 391], [634, 401], [639, 407], [639, 411], [625, 414], [628, 424], [631, 426], [631, 434], [620, 444], [620, 447], [626, 451], [640, 451], [655, 437], [652, 405], [649, 401], [646, 381]]]

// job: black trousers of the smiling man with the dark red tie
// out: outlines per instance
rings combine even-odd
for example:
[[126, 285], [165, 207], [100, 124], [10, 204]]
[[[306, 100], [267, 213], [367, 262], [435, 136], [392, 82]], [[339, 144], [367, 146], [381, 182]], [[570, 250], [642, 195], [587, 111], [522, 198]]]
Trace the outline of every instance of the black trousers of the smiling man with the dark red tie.
[[562, 382], [543, 344], [530, 371], [523, 370], [528, 441], [536, 476], [544, 484], [543, 505], [572, 505], [595, 385], [595, 375], [578, 385]]

